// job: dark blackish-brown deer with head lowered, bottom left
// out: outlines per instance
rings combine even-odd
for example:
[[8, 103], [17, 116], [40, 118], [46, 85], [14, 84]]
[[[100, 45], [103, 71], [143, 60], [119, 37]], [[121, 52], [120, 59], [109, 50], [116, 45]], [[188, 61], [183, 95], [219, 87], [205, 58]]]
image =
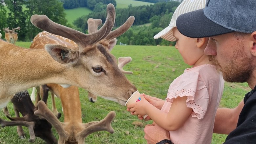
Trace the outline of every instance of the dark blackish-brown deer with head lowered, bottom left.
[[[6, 121], [0, 118], [0, 124], [5, 126], [17, 126], [17, 133], [21, 139], [26, 138], [21, 126], [29, 128], [29, 142], [35, 141], [35, 136], [43, 139], [47, 144], [56, 144], [57, 140], [52, 132], [52, 125], [45, 118], [34, 115], [38, 109], [34, 106], [27, 90], [18, 92], [11, 99], [16, 117], [7, 117], [12, 121]], [[19, 113], [23, 117], [20, 117]]]

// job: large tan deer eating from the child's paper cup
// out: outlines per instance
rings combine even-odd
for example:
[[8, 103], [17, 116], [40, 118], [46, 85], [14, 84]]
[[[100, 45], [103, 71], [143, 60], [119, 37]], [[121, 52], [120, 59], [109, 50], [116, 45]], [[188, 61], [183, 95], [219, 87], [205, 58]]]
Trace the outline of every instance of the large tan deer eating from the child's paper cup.
[[47, 83], [82, 87], [121, 105], [137, 90], [108, 51], [109, 41], [123, 34], [126, 25], [134, 22], [134, 16], [111, 31], [115, 7], [108, 4], [104, 25], [90, 34], [57, 24], [46, 15], [32, 15], [31, 22], [74, 41], [78, 47], [47, 44], [45, 49], [26, 49], [0, 40], [0, 107], [6, 106], [16, 92]]

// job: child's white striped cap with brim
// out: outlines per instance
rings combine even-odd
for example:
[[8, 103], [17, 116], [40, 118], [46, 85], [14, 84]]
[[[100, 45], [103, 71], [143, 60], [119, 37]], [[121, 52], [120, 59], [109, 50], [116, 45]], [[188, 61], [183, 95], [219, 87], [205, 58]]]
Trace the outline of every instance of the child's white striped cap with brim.
[[190, 11], [203, 9], [205, 6], [206, 0], [184, 0], [174, 11], [171, 22], [168, 27], [164, 28], [157, 35], [154, 36], [154, 39], [163, 38], [167, 41], [176, 41], [176, 38], [173, 36], [172, 28], [176, 27], [176, 20], [178, 16], [183, 13], [187, 13]]

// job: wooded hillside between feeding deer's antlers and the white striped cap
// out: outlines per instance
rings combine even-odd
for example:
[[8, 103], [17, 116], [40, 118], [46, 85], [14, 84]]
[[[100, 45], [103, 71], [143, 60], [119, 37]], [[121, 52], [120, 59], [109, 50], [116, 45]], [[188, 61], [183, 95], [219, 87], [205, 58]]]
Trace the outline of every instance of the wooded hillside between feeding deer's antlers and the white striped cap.
[[[135, 21], [133, 26], [123, 35], [117, 38], [118, 43], [127, 45], [174, 45], [175, 43], [163, 39], [153, 39], [153, 36], [167, 27], [173, 12], [179, 6], [178, 1], [159, 2], [154, 5], [139, 7], [128, 6], [126, 9], [116, 9], [115, 27], [121, 26], [129, 16], [133, 15]], [[89, 18], [106, 20], [106, 5], [97, 4], [97, 10], [89, 15], [75, 20], [74, 25], [84, 33], [87, 33], [87, 20]], [[150, 23], [150, 26], [141, 26]]]

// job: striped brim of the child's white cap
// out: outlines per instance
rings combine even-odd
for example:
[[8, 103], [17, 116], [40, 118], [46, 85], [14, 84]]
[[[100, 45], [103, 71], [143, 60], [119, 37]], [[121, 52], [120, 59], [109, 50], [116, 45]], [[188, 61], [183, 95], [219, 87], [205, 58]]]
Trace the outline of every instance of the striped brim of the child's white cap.
[[164, 28], [162, 31], [154, 36], [154, 39], [163, 38], [167, 41], [176, 41], [176, 38], [173, 36], [172, 28], [173, 27], [170, 26]]

